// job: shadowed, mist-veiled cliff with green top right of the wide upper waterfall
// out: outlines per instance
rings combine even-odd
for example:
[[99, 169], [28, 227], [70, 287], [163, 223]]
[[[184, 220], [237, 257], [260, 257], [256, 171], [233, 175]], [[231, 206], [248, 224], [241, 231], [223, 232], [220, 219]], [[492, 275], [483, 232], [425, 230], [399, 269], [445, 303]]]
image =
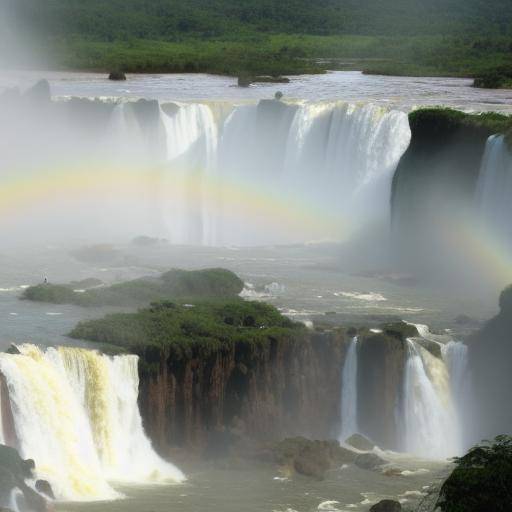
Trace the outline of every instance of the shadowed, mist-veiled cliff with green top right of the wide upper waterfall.
[[[402, 271], [431, 274], [450, 257], [453, 226], [474, 214], [487, 139], [505, 131], [510, 119], [424, 109], [412, 112], [409, 123], [411, 144], [392, 184], [393, 247]], [[453, 261], [446, 268], [453, 271]]]

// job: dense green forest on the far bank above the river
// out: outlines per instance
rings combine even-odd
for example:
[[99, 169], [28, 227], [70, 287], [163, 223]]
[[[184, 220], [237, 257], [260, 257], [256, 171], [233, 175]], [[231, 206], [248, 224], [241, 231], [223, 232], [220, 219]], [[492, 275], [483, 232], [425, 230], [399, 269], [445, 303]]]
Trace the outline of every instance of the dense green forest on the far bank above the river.
[[11, 29], [65, 68], [474, 76], [512, 65], [510, 0], [6, 1]]

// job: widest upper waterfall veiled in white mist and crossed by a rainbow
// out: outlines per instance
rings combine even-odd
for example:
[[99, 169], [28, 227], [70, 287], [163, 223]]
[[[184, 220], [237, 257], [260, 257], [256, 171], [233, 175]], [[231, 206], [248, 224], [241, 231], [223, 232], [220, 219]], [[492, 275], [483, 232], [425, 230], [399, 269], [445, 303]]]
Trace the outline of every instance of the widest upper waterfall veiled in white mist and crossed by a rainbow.
[[52, 108], [4, 121], [7, 239], [345, 240], [387, 229], [392, 175], [411, 137], [405, 112], [368, 103], [75, 98]]

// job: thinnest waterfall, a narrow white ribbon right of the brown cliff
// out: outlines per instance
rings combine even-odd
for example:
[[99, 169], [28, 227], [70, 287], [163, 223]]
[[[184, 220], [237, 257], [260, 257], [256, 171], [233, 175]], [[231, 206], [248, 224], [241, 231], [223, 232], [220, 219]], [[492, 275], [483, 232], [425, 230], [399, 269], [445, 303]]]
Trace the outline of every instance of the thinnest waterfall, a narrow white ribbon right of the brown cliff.
[[357, 426], [357, 336], [350, 341], [343, 364], [341, 383], [341, 429], [339, 439], [345, 441], [358, 432]]

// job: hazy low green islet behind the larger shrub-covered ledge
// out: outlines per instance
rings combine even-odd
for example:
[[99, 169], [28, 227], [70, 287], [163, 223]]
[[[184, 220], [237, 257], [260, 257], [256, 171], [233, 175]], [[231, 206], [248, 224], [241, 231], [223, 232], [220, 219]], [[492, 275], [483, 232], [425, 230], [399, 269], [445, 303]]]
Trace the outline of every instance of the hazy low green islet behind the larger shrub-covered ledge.
[[83, 283], [31, 286], [24, 291], [22, 299], [77, 306], [132, 306], [166, 299], [232, 298], [243, 289], [243, 281], [236, 274], [220, 268], [174, 269], [158, 278], [146, 277], [108, 287], [75, 291], [80, 290]]

